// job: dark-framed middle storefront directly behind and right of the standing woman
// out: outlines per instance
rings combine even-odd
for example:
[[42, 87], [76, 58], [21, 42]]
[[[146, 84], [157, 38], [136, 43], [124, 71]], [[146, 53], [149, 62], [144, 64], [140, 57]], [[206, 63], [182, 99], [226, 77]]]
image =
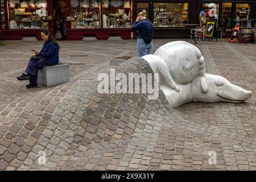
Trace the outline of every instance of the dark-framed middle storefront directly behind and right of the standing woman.
[[187, 38], [186, 24], [199, 24], [199, 4], [198, 0], [135, 0], [135, 11], [147, 11], [155, 24], [154, 38]]

